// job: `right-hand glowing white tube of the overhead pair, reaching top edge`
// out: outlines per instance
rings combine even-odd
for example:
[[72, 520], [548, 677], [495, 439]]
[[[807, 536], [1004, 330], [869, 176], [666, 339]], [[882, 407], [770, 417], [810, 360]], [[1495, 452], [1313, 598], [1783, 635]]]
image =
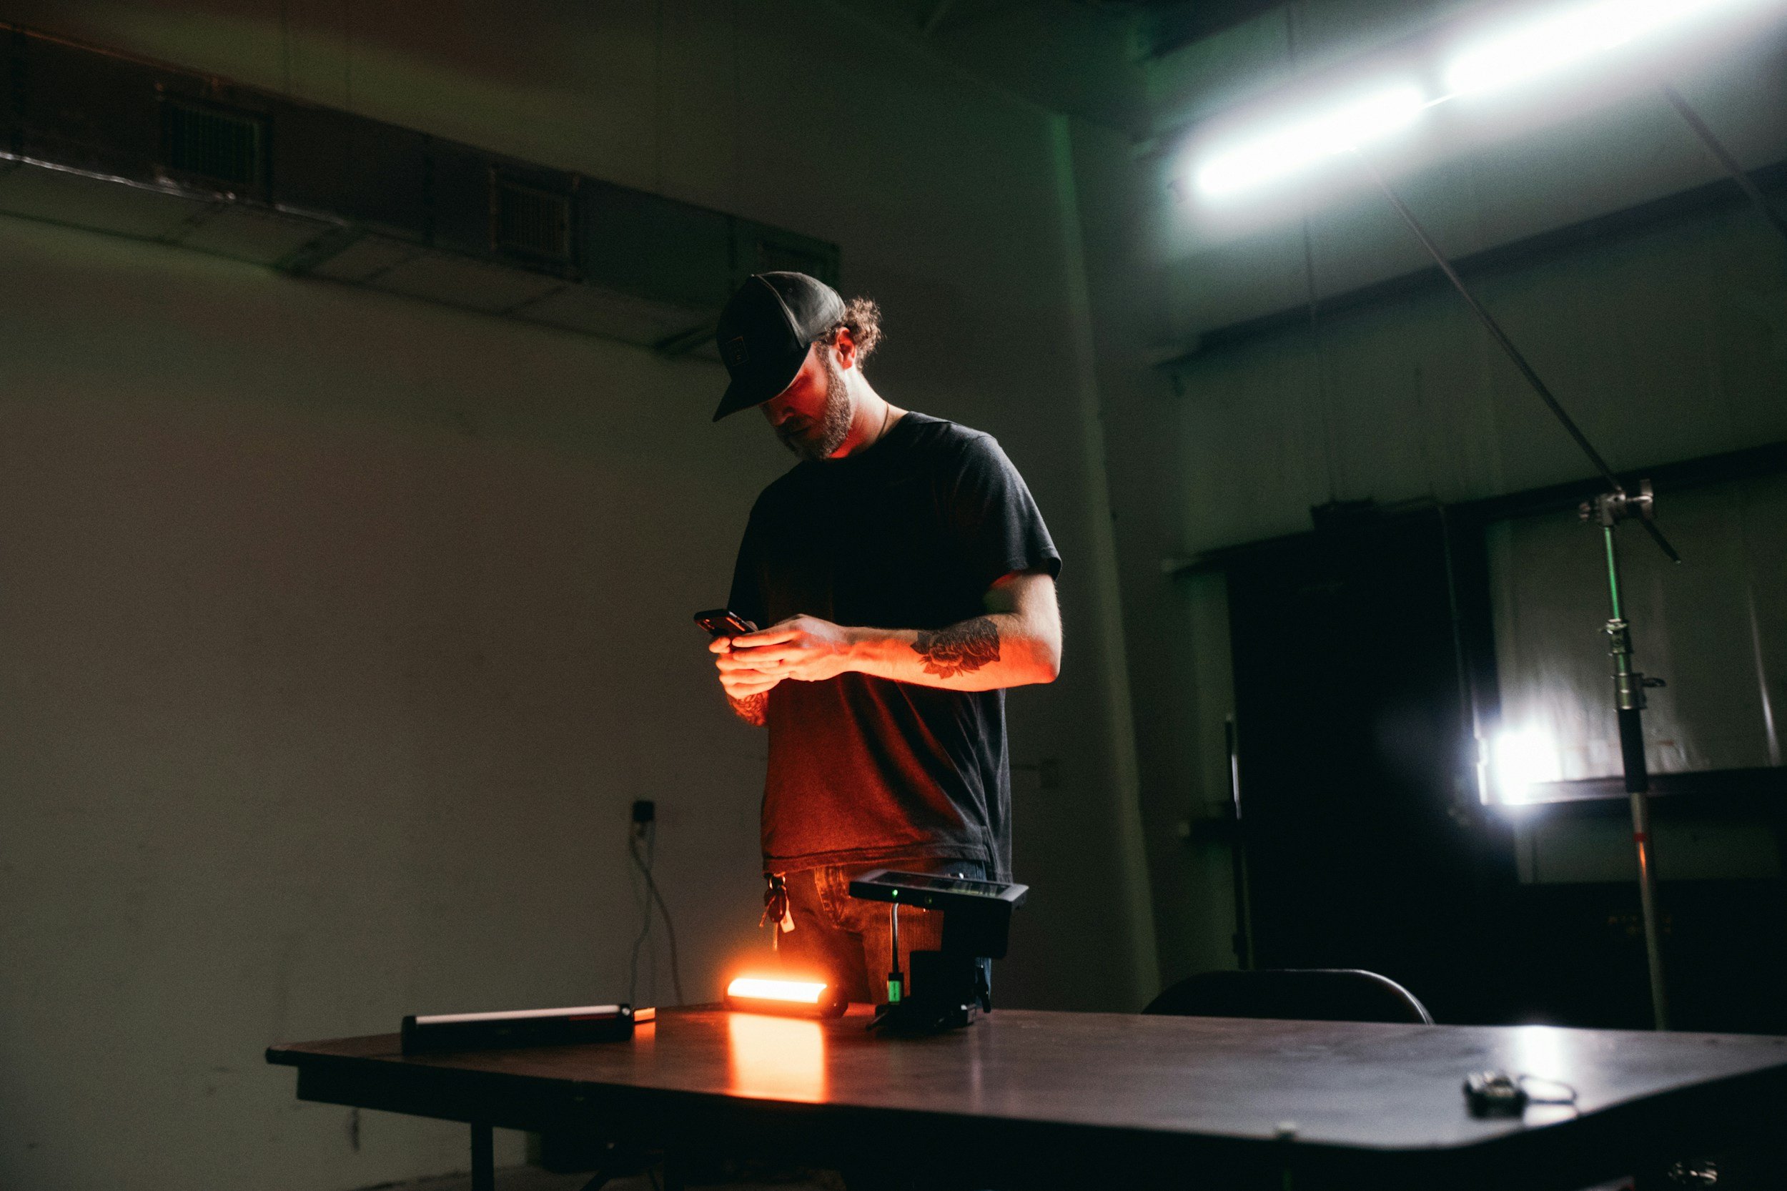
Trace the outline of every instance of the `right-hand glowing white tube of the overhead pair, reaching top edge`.
[[[1446, 68], [1453, 95], [1487, 95], [1758, 0], [1599, 0], [1517, 25]], [[1451, 98], [1451, 97], [1447, 97]]]

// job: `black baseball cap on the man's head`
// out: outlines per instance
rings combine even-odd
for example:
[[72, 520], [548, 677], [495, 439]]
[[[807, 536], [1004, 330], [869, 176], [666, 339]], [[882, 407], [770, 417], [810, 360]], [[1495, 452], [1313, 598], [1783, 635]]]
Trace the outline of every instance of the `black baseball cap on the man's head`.
[[733, 377], [713, 420], [761, 406], [788, 388], [806, 361], [806, 349], [842, 320], [843, 299], [818, 277], [752, 274], [727, 299], [713, 333]]

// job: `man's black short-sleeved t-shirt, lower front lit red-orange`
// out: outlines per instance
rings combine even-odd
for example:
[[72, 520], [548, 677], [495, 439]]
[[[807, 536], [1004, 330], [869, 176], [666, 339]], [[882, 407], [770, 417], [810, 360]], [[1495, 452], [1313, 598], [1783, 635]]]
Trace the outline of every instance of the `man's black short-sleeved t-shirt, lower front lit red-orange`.
[[[936, 629], [986, 613], [1013, 570], [1060, 572], [1042, 513], [992, 435], [908, 413], [861, 454], [806, 461], [758, 497], [729, 606]], [[768, 696], [763, 867], [951, 857], [1011, 873], [1004, 692], [847, 672]]]

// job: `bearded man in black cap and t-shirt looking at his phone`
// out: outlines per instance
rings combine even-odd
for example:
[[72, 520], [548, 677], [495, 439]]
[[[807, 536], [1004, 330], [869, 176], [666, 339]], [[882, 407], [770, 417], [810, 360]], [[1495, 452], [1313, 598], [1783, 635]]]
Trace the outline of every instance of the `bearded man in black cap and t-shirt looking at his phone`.
[[[890, 939], [851, 876], [1010, 878], [1004, 688], [1061, 658], [1061, 558], [1024, 479], [988, 435], [888, 404], [863, 376], [879, 336], [874, 302], [751, 277], [720, 315], [713, 415], [758, 406], [801, 458], [758, 497], [733, 576], [731, 610], [765, 628], [711, 649], [770, 733], [767, 917], [854, 1001], [883, 1000]], [[902, 914], [902, 951], [940, 928]]]

